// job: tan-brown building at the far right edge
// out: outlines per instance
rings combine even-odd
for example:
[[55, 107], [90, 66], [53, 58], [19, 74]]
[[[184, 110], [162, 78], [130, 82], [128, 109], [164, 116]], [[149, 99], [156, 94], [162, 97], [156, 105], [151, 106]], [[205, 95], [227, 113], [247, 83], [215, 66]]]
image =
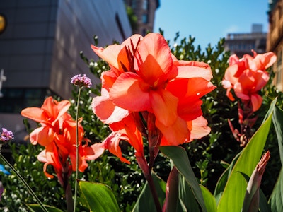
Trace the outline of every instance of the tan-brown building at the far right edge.
[[277, 61], [273, 65], [275, 71], [274, 85], [283, 91], [282, 51], [283, 51], [283, 1], [269, 1], [268, 21], [269, 31], [267, 35], [267, 51], [275, 52]]

